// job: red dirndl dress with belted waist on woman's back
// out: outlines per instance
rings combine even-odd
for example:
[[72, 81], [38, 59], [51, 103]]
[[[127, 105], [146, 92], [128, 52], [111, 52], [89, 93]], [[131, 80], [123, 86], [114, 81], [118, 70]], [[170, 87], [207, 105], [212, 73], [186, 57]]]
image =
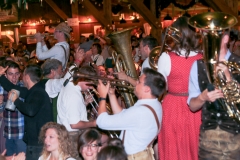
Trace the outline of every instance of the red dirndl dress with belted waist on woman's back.
[[186, 59], [171, 52], [169, 56], [171, 71], [167, 77], [168, 94], [162, 103], [163, 120], [158, 135], [159, 157], [160, 160], [197, 160], [201, 111], [191, 112], [187, 98], [191, 66], [202, 55], [197, 54]]

